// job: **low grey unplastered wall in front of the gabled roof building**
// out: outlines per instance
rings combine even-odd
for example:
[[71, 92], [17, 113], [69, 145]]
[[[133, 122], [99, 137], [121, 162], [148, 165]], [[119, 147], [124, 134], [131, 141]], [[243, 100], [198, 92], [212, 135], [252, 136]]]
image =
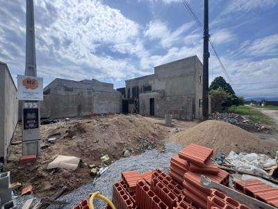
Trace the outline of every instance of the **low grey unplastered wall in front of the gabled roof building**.
[[40, 105], [42, 118], [90, 116], [92, 113], [121, 113], [122, 94], [119, 91], [74, 89], [66, 94], [51, 93]]

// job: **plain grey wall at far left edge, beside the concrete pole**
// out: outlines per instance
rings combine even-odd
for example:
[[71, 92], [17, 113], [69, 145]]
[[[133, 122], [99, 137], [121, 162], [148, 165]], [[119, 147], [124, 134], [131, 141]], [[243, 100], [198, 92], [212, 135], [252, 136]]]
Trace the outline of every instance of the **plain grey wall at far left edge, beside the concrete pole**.
[[17, 88], [7, 64], [0, 62], [0, 161], [6, 161], [18, 121]]

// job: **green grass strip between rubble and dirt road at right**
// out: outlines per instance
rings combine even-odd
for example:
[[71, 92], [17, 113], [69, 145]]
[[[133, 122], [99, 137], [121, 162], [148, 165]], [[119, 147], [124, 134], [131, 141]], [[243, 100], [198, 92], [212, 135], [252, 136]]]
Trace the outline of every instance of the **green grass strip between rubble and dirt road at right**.
[[273, 125], [274, 122], [273, 120], [265, 116], [265, 114], [261, 113], [261, 111], [254, 109], [252, 107], [247, 107], [247, 106], [232, 106], [229, 107], [229, 111], [231, 113], [236, 113], [240, 116], [248, 116], [250, 120], [253, 122], [261, 122], [262, 124], [265, 125]]

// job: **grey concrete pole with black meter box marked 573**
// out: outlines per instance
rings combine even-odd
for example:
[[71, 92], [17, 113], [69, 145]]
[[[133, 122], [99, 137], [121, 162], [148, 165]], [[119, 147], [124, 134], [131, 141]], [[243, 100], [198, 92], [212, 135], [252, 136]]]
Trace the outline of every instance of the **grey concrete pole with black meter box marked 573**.
[[[35, 62], [35, 24], [33, 0], [26, 0], [26, 63], [25, 75], [37, 77]], [[22, 155], [40, 155], [39, 101], [22, 102]]]

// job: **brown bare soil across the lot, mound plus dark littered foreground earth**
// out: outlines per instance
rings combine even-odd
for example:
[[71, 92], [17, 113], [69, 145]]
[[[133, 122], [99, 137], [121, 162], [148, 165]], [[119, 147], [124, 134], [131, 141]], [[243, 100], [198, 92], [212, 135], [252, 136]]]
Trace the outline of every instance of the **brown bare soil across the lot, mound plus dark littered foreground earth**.
[[[38, 197], [54, 194], [67, 186], [67, 192], [94, 181], [88, 165], [104, 165], [100, 157], [108, 154], [110, 165], [123, 157], [125, 149], [131, 154], [140, 154], [146, 149], [164, 151], [164, 139], [183, 131], [198, 122], [176, 120], [173, 127], [165, 127], [164, 120], [140, 115], [111, 115], [96, 118], [70, 118], [54, 124], [42, 125], [42, 144], [53, 134], [60, 134], [56, 143], [41, 152], [36, 163], [19, 165], [22, 156], [22, 144], [12, 145], [9, 162], [5, 170], [11, 172], [11, 182], [20, 182], [23, 187], [33, 185], [33, 192]], [[21, 126], [18, 125], [13, 143], [22, 140]], [[76, 156], [83, 163], [75, 171], [65, 169], [47, 170], [47, 165], [57, 155]]]

